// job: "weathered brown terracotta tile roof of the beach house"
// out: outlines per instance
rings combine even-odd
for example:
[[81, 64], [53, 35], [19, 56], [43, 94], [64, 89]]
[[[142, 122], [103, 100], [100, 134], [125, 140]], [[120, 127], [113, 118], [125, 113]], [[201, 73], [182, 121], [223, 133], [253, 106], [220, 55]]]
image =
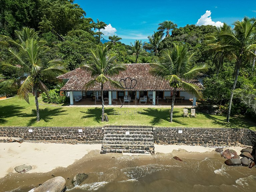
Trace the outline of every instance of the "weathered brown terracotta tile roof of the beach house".
[[[157, 78], [149, 73], [150, 64], [148, 63], [138, 63], [138, 64], [125, 64], [127, 70], [122, 71], [119, 75], [112, 77], [111, 79], [120, 81], [120, 79], [125, 79], [130, 77], [131, 79], [136, 79], [137, 84], [133, 89], [125, 89], [129, 91], [170, 91], [173, 88], [169, 85], [166, 80]], [[66, 74], [58, 77], [59, 79], [69, 79], [68, 82], [61, 88], [62, 91], [84, 91], [85, 84], [92, 80], [91, 73], [77, 68]], [[187, 81], [199, 87], [203, 85], [197, 80], [192, 79]], [[99, 83], [95, 84], [94, 87], [90, 88], [90, 91], [100, 91], [101, 86]], [[109, 82], [106, 82], [103, 87], [104, 91], [119, 91], [122, 89], [117, 89], [110, 86]], [[177, 91], [183, 91], [182, 88], [178, 88]]]

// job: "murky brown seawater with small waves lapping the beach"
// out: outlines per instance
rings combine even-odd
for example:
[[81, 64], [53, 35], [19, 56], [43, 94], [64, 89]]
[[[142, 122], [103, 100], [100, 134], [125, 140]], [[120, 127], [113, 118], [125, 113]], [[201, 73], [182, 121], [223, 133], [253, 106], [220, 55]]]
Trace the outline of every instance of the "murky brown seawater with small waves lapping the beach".
[[[177, 156], [184, 161], [177, 161]], [[255, 191], [256, 167], [227, 166], [217, 152], [188, 153], [152, 156], [123, 156], [99, 154], [93, 151], [67, 168], [56, 168], [48, 173], [11, 173], [0, 179], [0, 191], [28, 192], [54, 176], [66, 179], [67, 192], [220, 192]], [[88, 178], [73, 187], [77, 173]]]

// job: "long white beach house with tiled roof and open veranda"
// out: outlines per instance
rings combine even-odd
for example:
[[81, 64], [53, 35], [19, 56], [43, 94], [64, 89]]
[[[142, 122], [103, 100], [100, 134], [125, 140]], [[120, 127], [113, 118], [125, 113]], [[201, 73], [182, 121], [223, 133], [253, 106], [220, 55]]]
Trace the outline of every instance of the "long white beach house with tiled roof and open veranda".
[[[125, 64], [126, 70], [112, 77], [120, 82], [122, 89], [112, 87], [109, 82], [103, 86], [103, 98], [106, 105], [171, 105], [172, 91], [168, 81], [149, 73], [150, 64]], [[77, 68], [58, 77], [68, 79], [62, 91], [69, 92], [70, 105], [101, 105], [101, 86], [95, 84], [85, 89], [91, 78], [90, 72]], [[202, 78], [192, 79], [188, 83], [203, 87]], [[196, 97], [183, 88], [177, 88], [175, 105], [196, 105]]]

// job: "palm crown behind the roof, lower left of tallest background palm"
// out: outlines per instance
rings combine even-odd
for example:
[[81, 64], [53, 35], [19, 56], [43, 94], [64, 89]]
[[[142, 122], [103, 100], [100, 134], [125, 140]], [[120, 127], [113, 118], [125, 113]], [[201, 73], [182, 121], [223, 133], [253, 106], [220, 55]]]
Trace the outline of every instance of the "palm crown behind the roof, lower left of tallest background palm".
[[157, 31], [157, 32], [154, 31], [154, 34], [151, 37], [148, 36], [149, 43], [146, 43], [144, 45], [144, 48], [153, 50], [154, 55], [157, 55], [159, 44], [162, 41], [163, 36], [164, 34], [162, 31]]

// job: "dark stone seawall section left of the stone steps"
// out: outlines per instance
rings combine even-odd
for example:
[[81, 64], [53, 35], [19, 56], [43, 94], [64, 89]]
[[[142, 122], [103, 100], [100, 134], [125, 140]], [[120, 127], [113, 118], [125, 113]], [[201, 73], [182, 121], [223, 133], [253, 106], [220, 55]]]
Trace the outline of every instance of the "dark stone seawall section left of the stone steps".
[[103, 127], [0, 127], [0, 137], [20, 137], [25, 140], [99, 141]]

